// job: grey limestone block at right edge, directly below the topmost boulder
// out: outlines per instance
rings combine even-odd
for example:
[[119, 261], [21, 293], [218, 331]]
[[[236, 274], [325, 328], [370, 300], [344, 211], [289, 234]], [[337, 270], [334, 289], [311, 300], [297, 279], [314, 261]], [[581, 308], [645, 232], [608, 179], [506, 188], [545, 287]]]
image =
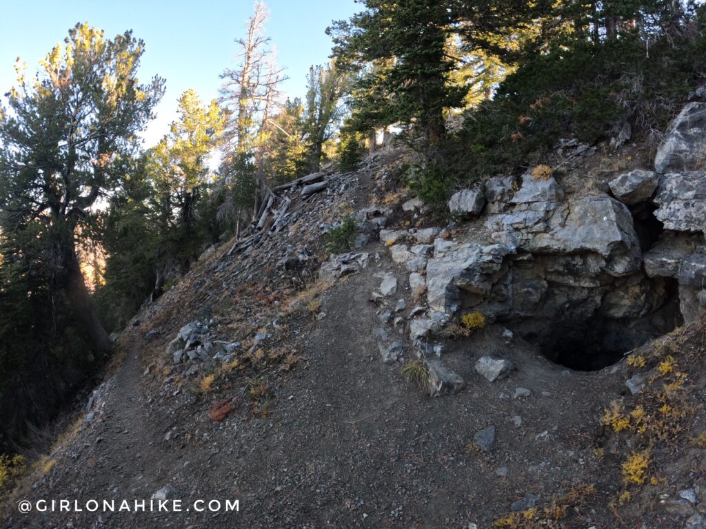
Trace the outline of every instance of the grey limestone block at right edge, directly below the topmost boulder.
[[664, 228], [706, 231], [706, 171], [665, 174], [659, 179], [654, 212]]

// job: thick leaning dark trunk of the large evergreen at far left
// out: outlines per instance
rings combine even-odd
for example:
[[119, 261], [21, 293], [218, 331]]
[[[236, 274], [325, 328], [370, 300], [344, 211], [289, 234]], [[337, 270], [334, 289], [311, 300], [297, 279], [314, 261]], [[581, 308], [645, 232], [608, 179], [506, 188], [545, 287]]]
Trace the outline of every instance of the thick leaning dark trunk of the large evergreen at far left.
[[76, 252], [68, 248], [65, 253], [64, 266], [66, 267], [66, 293], [71, 301], [71, 308], [83, 324], [96, 353], [104, 354], [110, 351], [110, 340], [103, 324], [95, 313], [88, 288], [86, 288], [83, 274], [81, 273]]

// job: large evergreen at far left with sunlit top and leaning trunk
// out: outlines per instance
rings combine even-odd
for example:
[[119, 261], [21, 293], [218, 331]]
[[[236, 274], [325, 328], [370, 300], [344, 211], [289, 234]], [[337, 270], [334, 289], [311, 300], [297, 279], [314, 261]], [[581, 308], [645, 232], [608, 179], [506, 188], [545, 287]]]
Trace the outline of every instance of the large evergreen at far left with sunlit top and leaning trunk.
[[[97, 352], [109, 349], [80, 263], [76, 237], [90, 233], [97, 200], [126, 176], [125, 157], [162, 96], [162, 80], [136, 78], [144, 44], [131, 32], [104, 39], [88, 25], [69, 31], [29, 80], [18, 68], [18, 88], [0, 110], [2, 230], [18, 253], [35, 252], [52, 269], [51, 293], [65, 291]], [[22, 233], [36, 233], [36, 240]]]

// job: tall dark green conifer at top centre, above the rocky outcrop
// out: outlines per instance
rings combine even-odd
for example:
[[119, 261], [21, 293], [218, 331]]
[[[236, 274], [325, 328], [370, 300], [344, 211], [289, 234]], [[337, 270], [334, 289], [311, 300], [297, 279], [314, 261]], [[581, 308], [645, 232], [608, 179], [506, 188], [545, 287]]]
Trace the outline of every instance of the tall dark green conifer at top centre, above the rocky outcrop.
[[[341, 65], [363, 70], [354, 114], [374, 116], [378, 126], [411, 125], [429, 144], [438, 144], [445, 135], [445, 110], [461, 107], [466, 92], [450, 83], [459, 63], [445, 49], [455, 13], [436, 0], [363, 4], [366, 11], [327, 30]], [[365, 70], [369, 65], [374, 67]]]

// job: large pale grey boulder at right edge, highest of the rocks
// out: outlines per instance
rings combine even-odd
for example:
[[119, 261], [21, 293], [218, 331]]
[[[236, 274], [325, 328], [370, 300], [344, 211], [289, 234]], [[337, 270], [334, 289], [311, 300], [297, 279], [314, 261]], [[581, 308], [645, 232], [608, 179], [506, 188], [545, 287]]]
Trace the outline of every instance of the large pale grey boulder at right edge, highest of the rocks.
[[690, 103], [669, 127], [654, 157], [658, 173], [697, 169], [705, 161], [706, 103]]

